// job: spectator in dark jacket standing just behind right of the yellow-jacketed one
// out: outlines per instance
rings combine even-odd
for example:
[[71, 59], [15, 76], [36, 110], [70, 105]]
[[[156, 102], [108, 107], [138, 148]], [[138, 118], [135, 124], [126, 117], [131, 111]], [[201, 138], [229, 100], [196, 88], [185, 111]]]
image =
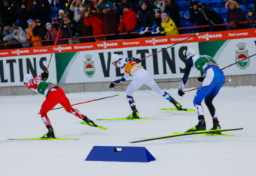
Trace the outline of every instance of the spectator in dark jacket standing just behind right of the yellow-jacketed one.
[[179, 14], [180, 7], [178, 7], [175, 0], [165, 0], [165, 4], [166, 8], [164, 12], [171, 17], [177, 28], [181, 28], [181, 16]]

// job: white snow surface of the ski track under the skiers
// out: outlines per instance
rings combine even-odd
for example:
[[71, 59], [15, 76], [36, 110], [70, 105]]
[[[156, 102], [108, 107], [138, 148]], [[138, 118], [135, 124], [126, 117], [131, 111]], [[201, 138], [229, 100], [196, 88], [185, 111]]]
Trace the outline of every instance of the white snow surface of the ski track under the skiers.
[[[168, 91], [183, 107], [194, 109], [195, 91], [179, 97], [177, 89]], [[118, 94], [117, 91], [67, 94], [71, 103], [79, 103]], [[131, 113], [125, 92], [75, 106], [92, 120], [125, 118]], [[64, 109], [48, 113], [59, 138], [77, 141], [9, 141], [7, 138], [41, 137], [47, 132], [37, 113], [44, 96], [0, 97], [0, 175], [256, 175], [256, 87], [224, 87], [215, 98], [221, 128], [227, 136], [181, 136], [130, 144], [131, 141], [183, 132], [197, 124], [194, 112], [164, 112], [173, 108], [154, 91], [133, 94], [139, 114], [145, 121], [96, 121], [108, 130], [80, 124], [80, 119]], [[207, 129], [212, 118], [203, 103]], [[85, 161], [93, 146], [144, 146], [156, 158], [150, 163]]]

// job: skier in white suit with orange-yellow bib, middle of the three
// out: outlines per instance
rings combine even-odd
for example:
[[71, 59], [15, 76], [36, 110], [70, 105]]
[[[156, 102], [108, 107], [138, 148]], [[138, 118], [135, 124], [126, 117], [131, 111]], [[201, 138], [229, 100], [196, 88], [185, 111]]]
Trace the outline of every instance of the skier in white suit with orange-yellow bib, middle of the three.
[[111, 62], [115, 67], [121, 69], [124, 68], [124, 76], [121, 79], [117, 79], [114, 82], [111, 82], [109, 88], [114, 88], [114, 85], [125, 82], [126, 79], [131, 75], [133, 76], [133, 81], [130, 82], [130, 85], [126, 89], [126, 96], [130, 103], [130, 107], [133, 110], [133, 114], [129, 115], [127, 118], [139, 118], [139, 112], [136, 109], [136, 104], [133, 100], [133, 92], [137, 91], [142, 85], [148, 85], [158, 94], [162, 95], [169, 100], [178, 110], [181, 110], [181, 104], [174, 100], [166, 91], [162, 91], [154, 79], [151, 78], [148, 71], [145, 70], [138, 63], [141, 62], [139, 58], [120, 58], [119, 55], [114, 54], [111, 57]]

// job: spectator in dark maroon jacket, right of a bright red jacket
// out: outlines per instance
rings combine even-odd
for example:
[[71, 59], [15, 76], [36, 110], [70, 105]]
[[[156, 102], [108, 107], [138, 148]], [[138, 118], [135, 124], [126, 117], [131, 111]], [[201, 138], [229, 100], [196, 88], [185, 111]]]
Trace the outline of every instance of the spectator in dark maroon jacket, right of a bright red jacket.
[[[91, 16], [96, 16], [102, 19], [104, 34], [116, 34], [117, 32], [117, 19], [115, 17], [114, 11], [111, 10], [108, 4], [102, 8], [103, 13], [91, 12]], [[115, 40], [116, 36], [107, 36], [106, 40]]]

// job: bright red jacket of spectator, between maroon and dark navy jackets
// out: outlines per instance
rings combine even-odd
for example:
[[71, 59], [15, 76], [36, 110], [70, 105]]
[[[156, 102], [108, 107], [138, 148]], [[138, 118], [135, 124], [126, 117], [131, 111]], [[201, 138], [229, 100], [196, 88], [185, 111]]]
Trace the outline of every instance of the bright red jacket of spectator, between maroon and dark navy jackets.
[[121, 18], [121, 22], [117, 30], [122, 31], [124, 25], [125, 31], [130, 31], [135, 27], [136, 22], [137, 14], [130, 8], [130, 10], [123, 12], [123, 16]]

